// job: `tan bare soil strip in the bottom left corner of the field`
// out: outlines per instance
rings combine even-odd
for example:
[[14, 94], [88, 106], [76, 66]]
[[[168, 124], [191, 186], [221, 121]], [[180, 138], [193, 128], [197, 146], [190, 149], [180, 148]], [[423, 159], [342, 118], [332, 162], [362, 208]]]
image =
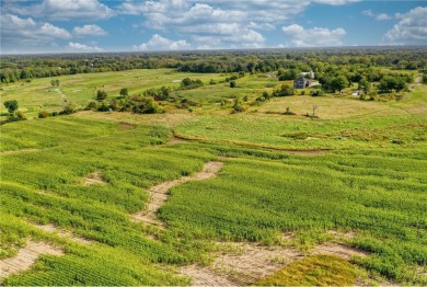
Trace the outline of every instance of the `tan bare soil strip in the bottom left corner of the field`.
[[28, 240], [25, 248], [21, 249], [16, 256], [0, 261], [0, 279], [28, 269], [41, 254], [59, 256], [64, 254], [64, 251], [45, 242]]

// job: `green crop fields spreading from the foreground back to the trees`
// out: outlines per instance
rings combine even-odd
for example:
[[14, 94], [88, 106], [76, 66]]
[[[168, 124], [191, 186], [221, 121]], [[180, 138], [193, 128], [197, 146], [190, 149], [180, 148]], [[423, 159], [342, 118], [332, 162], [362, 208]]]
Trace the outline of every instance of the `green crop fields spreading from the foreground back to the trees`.
[[[3, 85], [1, 103], [18, 100], [28, 120], [1, 126], [0, 283], [427, 285], [427, 87], [401, 101], [255, 105], [277, 79], [247, 74], [232, 89], [229, 76], [129, 70]], [[187, 77], [205, 85], [172, 96], [191, 110], [34, 118], [60, 111], [61, 96], [84, 107], [99, 89], [137, 94]], [[313, 105], [318, 117], [305, 116]], [[153, 195], [159, 185], [168, 191]], [[135, 219], [153, 204], [161, 225]], [[10, 268], [20, 256], [28, 266]], [[251, 266], [268, 272], [249, 278]]]

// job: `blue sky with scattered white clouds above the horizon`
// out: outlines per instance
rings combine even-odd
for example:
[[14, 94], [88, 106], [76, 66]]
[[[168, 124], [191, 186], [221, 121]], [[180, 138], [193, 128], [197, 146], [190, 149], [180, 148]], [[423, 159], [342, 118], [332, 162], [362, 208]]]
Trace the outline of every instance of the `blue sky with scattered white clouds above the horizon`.
[[1, 54], [427, 45], [427, 0], [0, 0]]

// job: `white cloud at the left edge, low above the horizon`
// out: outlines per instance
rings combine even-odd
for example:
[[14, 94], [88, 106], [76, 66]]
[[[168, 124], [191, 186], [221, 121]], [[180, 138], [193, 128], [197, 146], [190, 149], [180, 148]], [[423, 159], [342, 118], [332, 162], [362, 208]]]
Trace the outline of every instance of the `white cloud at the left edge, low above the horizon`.
[[65, 28], [12, 14], [0, 15], [0, 26], [1, 47], [5, 50], [16, 47], [44, 46], [55, 39], [71, 38], [71, 34]]

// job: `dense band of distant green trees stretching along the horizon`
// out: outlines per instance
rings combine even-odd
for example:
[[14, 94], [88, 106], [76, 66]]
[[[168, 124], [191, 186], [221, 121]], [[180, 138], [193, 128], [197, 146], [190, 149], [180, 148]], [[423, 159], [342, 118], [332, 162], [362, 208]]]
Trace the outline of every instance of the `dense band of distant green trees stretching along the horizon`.
[[62, 55], [3, 55], [2, 83], [62, 74], [172, 68], [180, 72], [270, 72], [280, 68], [330, 72], [371, 67], [424, 70], [426, 47], [365, 47], [328, 49], [265, 49], [180, 53], [103, 53]]

